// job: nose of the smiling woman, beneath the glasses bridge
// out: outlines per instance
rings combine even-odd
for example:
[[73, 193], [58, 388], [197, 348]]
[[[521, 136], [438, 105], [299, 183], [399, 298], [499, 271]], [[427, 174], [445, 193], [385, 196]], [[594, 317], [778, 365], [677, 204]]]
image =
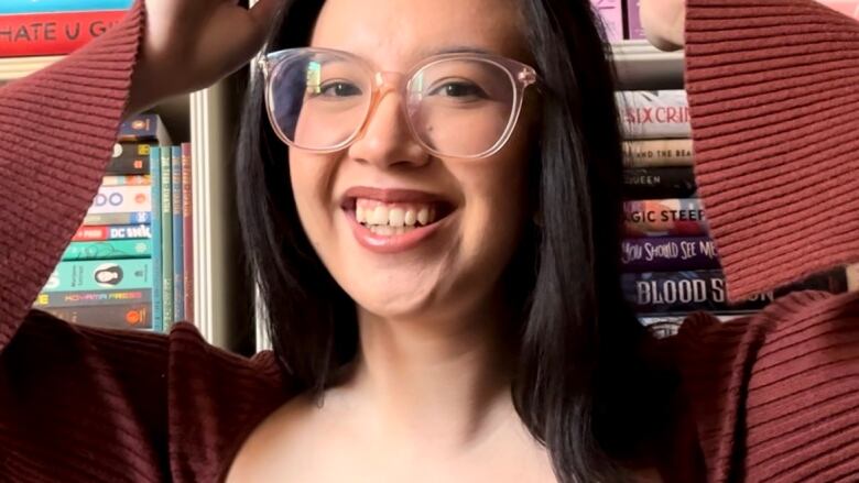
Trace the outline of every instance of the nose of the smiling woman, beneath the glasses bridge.
[[395, 89], [385, 89], [379, 96], [363, 131], [349, 146], [349, 156], [382, 168], [425, 165], [430, 153], [409, 129], [402, 95]]

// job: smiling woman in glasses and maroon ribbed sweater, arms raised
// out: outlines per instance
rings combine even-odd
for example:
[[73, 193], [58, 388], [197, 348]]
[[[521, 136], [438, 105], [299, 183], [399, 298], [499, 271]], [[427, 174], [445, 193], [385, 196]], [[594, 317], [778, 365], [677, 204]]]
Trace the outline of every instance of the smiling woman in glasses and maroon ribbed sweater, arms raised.
[[[142, 44], [138, 6], [65, 64], [3, 89], [6, 477], [628, 481], [655, 465], [666, 481], [826, 481], [859, 471], [849, 410], [859, 397], [855, 295], [805, 293], [725, 326], [699, 315], [655, 348], [632, 323], [615, 278], [617, 226], [591, 216], [619, 213], [620, 154], [584, 1], [293, 7], [271, 50], [316, 51], [268, 57], [270, 102], [255, 86], [239, 165], [280, 364], [271, 353], [247, 361], [217, 351], [187, 325], [164, 338], [28, 314], [96, 191], [123, 109], [241, 65], [278, 18], [274, 2], [250, 13], [228, 3], [151, 0]], [[855, 64], [859, 29], [806, 2], [732, 8], [742, 3], [692, 1], [686, 22], [698, 175], [735, 299], [855, 260], [859, 249], [849, 237], [855, 182], [830, 186], [805, 166], [855, 168], [849, 150], [819, 151], [820, 140], [849, 135], [851, 121], [791, 122], [856, 102], [847, 89], [839, 102], [818, 99], [801, 80], [825, 76], [833, 62]], [[670, 11], [682, 19], [681, 7]], [[682, 24], [666, 21], [657, 41], [681, 43]], [[760, 29], [774, 39], [761, 40]], [[819, 36], [840, 43], [819, 47], [811, 42]], [[749, 47], [766, 42], [787, 47]], [[798, 61], [792, 43], [803, 45]], [[757, 63], [739, 62], [749, 56]], [[766, 63], [775, 74], [755, 77]], [[187, 76], [161, 81], [175, 69]], [[497, 81], [507, 75], [509, 85]], [[838, 92], [851, 79], [827, 85]], [[781, 83], [787, 100], [768, 99]], [[331, 112], [356, 117], [333, 124], [347, 118]], [[261, 124], [267, 114], [271, 127]], [[486, 123], [499, 118], [508, 122]], [[736, 129], [772, 141], [743, 133], [752, 141], [738, 152]], [[796, 146], [796, 133], [820, 154]], [[70, 162], [55, 160], [36, 141], [76, 147]], [[785, 158], [796, 175], [780, 166]], [[54, 186], [36, 173], [73, 182]], [[804, 208], [775, 202], [792, 200], [785, 186], [837, 216], [809, 223], [794, 215]], [[820, 186], [831, 189], [808, 193]], [[732, 202], [743, 196], [770, 218], [744, 218]], [[31, 213], [36, 202], [44, 219]], [[797, 237], [814, 250], [793, 254], [791, 266]], [[673, 407], [653, 407], [667, 398]], [[638, 411], [651, 408], [672, 420], [649, 428], [655, 418]]]

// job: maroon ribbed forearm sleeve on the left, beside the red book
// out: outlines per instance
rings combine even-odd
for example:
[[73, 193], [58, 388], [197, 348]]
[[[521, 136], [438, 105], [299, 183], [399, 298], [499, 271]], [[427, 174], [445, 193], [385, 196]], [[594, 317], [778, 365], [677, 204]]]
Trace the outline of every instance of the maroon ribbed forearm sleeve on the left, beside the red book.
[[78, 52], [0, 89], [0, 349], [93, 204], [128, 101], [139, 0]]

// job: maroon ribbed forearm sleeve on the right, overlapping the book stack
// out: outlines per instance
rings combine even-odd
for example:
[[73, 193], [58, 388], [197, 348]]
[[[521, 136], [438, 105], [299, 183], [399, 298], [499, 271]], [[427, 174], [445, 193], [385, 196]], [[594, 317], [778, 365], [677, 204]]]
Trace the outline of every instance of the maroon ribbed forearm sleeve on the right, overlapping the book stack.
[[812, 0], [688, 0], [685, 80], [729, 300], [859, 260], [859, 24]]

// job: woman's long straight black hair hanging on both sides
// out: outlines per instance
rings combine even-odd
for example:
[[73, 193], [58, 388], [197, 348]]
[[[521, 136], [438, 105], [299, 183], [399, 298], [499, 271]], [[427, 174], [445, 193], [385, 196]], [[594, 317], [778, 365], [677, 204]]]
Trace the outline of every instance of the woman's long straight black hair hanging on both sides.
[[[272, 51], [307, 45], [320, 0], [298, 0]], [[605, 35], [589, 0], [522, 0], [541, 79], [529, 163], [540, 222], [505, 276], [521, 300], [513, 402], [562, 482], [623, 481], [659, 426], [666, 391], [641, 358], [650, 337], [620, 289], [621, 135]], [[241, 125], [238, 201], [250, 271], [273, 349], [296, 389], [320, 394], [357, 353], [355, 303], [302, 229], [286, 146], [270, 128], [262, 79]], [[662, 377], [660, 376], [660, 381]], [[653, 422], [656, 421], [654, 425]]]

